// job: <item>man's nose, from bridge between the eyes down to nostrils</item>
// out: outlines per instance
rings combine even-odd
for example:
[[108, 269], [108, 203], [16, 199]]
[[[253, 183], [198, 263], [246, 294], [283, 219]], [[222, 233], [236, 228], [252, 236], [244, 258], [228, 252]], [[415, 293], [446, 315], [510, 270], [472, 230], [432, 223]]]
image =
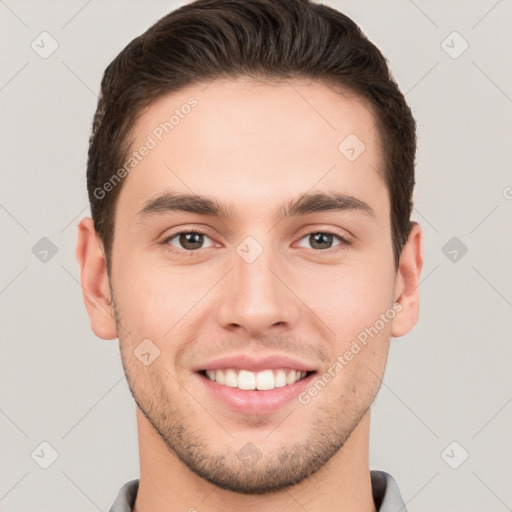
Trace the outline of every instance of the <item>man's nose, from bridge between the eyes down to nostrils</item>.
[[283, 266], [278, 254], [269, 237], [263, 238], [248, 236], [235, 247], [233, 270], [223, 285], [218, 310], [223, 327], [238, 325], [252, 335], [278, 323], [293, 324], [298, 318], [297, 298], [283, 283], [285, 276], [279, 275]]

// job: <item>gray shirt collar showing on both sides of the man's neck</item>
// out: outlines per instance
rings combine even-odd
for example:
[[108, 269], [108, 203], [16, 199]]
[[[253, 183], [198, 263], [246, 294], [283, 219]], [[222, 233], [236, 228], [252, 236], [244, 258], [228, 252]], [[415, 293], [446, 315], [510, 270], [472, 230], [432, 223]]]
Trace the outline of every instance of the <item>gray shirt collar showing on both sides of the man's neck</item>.
[[[404, 500], [400, 495], [400, 489], [389, 473], [371, 470], [370, 477], [373, 501], [378, 512], [407, 512]], [[126, 482], [121, 487], [110, 512], [132, 512], [138, 488], [138, 479]]]

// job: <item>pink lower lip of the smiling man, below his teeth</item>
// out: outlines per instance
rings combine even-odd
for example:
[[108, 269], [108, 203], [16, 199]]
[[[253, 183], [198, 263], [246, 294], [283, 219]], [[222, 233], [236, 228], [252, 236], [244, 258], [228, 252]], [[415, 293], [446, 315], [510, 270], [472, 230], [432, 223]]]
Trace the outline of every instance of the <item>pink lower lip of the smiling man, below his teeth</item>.
[[296, 399], [311, 384], [316, 373], [311, 373], [293, 384], [265, 391], [231, 388], [218, 384], [199, 373], [196, 373], [196, 375], [210, 393], [231, 410], [246, 414], [262, 415], [277, 411], [288, 402]]

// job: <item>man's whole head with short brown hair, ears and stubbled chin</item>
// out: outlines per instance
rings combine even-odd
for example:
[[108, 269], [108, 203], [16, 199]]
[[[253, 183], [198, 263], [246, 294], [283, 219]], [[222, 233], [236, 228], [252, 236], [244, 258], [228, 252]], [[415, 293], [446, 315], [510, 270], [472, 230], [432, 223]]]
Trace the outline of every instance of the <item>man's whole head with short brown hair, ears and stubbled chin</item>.
[[[415, 147], [380, 51], [305, 0], [198, 0], [108, 66], [77, 247], [84, 297], [95, 333], [119, 337], [148, 424], [196, 474], [275, 491], [367, 417], [389, 340], [418, 315]], [[242, 353], [292, 357], [311, 385], [331, 378], [278, 410], [236, 411], [202, 370]]]

